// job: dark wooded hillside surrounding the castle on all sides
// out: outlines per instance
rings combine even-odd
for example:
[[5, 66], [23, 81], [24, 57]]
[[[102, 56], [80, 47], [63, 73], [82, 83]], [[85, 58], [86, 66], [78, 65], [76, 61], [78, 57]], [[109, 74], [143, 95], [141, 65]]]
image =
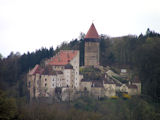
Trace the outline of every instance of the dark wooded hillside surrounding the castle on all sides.
[[41, 48], [20, 55], [0, 55], [0, 119], [2, 120], [159, 120], [160, 119], [160, 34], [147, 29], [146, 34], [112, 38], [100, 37], [100, 64], [127, 67], [142, 83], [141, 96], [130, 99], [95, 100], [83, 96], [72, 102], [30, 103], [26, 74], [36, 64], [54, 56], [59, 50], [80, 51], [84, 65], [84, 34], [63, 42], [56, 49]]

